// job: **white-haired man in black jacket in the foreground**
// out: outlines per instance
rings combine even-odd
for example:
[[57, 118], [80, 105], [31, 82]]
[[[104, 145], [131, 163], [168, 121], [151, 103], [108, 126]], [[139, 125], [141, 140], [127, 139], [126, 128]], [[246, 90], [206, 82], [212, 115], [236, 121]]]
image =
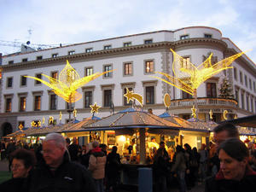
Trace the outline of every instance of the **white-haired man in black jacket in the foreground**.
[[43, 142], [44, 162], [28, 178], [27, 192], [96, 192], [90, 172], [69, 159], [64, 137], [48, 134]]

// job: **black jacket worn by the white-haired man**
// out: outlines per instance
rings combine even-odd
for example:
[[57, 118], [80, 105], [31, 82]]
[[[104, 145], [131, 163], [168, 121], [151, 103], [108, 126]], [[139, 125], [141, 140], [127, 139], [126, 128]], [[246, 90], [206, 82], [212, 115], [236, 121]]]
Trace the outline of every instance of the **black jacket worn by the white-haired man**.
[[96, 192], [95, 183], [84, 166], [71, 162], [68, 154], [55, 172], [49, 166], [38, 166], [28, 180], [30, 192]]

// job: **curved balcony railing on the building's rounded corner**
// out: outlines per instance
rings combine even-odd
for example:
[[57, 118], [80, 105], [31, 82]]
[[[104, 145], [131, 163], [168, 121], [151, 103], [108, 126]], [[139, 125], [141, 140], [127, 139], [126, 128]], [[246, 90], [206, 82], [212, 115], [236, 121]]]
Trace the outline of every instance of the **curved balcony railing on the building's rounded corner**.
[[[186, 107], [193, 106], [195, 103], [195, 99], [176, 99], [171, 101], [172, 107]], [[224, 98], [209, 98], [209, 97], [198, 97], [197, 98], [198, 106], [202, 105], [213, 105], [213, 106], [229, 106], [236, 107], [237, 102], [235, 99], [224, 99]]]

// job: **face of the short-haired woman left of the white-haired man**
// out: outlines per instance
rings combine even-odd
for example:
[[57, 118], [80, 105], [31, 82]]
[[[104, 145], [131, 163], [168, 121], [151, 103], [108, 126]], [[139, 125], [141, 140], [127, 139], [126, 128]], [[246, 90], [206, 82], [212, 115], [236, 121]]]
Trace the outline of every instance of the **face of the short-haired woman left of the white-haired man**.
[[23, 160], [18, 159], [13, 160], [11, 168], [14, 178], [27, 177], [28, 172], [31, 170], [31, 167], [25, 167]]

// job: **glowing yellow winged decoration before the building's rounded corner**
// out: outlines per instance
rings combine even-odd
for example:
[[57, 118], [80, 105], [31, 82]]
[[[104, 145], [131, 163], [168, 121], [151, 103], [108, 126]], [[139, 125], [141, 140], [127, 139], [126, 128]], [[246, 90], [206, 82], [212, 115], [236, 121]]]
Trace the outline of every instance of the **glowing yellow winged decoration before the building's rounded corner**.
[[182, 56], [177, 55], [174, 50], [171, 49], [171, 51], [173, 54], [172, 71], [174, 76], [171, 76], [167, 73], [155, 72], [165, 76], [166, 79], [162, 79], [156, 76], [153, 76], [153, 78], [160, 79], [167, 84], [171, 84], [172, 86], [175, 86], [179, 90], [183, 90], [192, 96], [195, 96], [197, 88], [204, 81], [225, 69], [232, 68], [230, 67], [230, 64], [244, 54], [244, 52], [241, 52], [239, 54], [232, 55], [222, 61], [218, 61], [213, 65], [211, 62], [211, 54], [206, 61], [201, 63], [200, 66], [195, 67], [195, 65], [190, 61], [187, 61], [183, 59]]

